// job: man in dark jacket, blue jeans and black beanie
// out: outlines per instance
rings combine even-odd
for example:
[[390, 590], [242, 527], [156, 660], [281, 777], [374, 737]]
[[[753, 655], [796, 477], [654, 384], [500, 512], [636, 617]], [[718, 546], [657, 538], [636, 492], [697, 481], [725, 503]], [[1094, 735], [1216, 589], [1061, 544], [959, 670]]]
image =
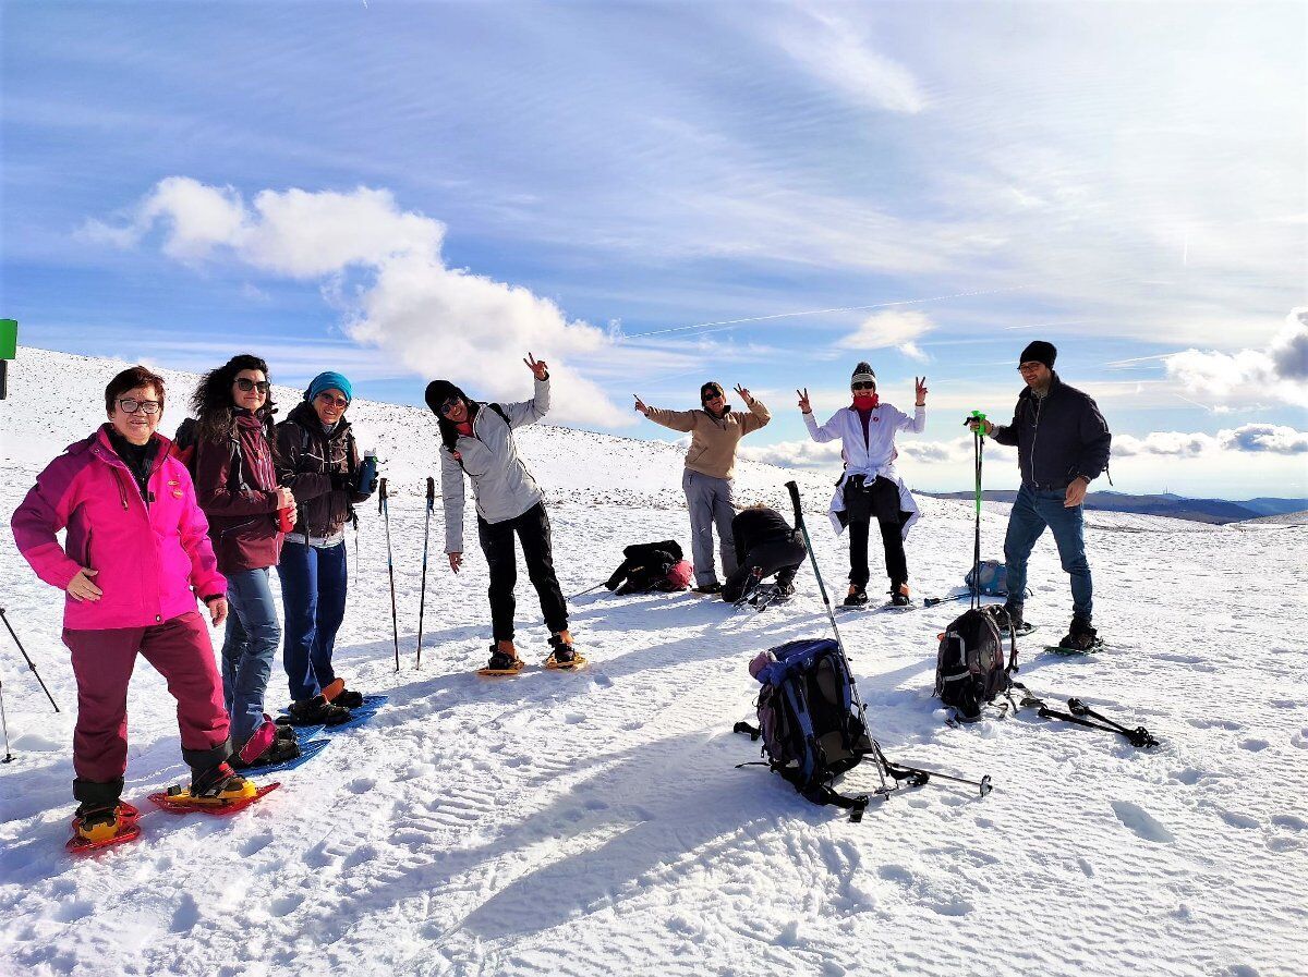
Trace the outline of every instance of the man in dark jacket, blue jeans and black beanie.
[[[1027, 559], [1049, 526], [1062, 568], [1071, 575], [1071, 627], [1059, 644], [1084, 652], [1095, 647], [1096, 635], [1090, 623], [1093, 589], [1086, 560], [1083, 503], [1087, 486], [1108, 468], [1112, 435], [1095, 401], [1058, 379], [1053, 370], [1057, 355], [1050, 342], [1029, 344], [1018, 366], [1027, 388], [1018, 396], [1012, 423], [980, 423], [981, 432], [999, 444], [1016, 445], [1022, 469], [1022, 488], [1003, 541], [1008, 577], [1005, 607], [1020, 626]], [[969, 426], [976, 430], [977, 422]]]

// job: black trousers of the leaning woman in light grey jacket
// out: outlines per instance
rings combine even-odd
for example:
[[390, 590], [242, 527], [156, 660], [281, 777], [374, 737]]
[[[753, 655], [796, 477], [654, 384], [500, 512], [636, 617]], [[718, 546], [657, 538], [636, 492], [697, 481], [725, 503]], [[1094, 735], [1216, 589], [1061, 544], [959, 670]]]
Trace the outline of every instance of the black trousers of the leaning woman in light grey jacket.
[[518, 583], [518, 554], [513, 537], [522, 543], [522, 556], [527, 562], [527, 576], [540, 596], [540, 611], [551, 633], [568, 628], [568, 605], [559, 589], [555, 560], [549, 543], [549, 516], [544, 503], [536, 503], [515, 519], [487, 522], [477, 516], [477, 537], [490, 568], [490, 623], [496, 641], [513, 640], [513, 589]]

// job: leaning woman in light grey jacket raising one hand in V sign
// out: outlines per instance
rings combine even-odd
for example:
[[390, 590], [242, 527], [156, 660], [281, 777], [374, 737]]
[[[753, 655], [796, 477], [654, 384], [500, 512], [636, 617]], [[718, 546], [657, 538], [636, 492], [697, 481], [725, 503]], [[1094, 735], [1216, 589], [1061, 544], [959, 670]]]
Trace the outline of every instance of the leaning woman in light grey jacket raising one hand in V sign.
[[518, 580], [514, 536], [540, 596], [540, 610], [553, 649], [545, 665], [570, 669], [585, 658], [573, 649], [568, 605], [555, 575], [549, 516], [544, 492], [518, 457], [514, 428], [531, 424], [549, 410], [549, 370], [530, 353], [523, 360], [536, 379], [535, 396], [521, 404], [479, 404], [449, 380], [426, 385], [426, 405], [441, 428], [441, 502], [445, 508], [445, 553], [450, 568], [463, 566], [463, 477], [472, 482], [477, 537], [490, 569], [489, 673], [514, 673], [522, 660], [513, 644], [513, 589]]

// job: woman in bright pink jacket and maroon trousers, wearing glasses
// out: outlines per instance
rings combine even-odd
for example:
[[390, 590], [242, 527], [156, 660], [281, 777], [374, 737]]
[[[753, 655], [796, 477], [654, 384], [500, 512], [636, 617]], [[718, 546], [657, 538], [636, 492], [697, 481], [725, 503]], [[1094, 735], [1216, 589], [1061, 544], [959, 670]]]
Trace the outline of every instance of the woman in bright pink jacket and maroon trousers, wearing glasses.
[[[145, 367], [105, 389], [109, 423], [68, 447], [13, 513], [18, 550], [37, 576], [67, 592], [64, 644], [77, 679], [73, 733], [76, 833], [124, 833], [127, 683], [140, 653], [177, 699], [191, 794], [235, 799], [255, 788], [228, 765], [228, 713], [204, 618], [228, 614], [208, 524], [191, 477], [156, 434], [164, 380]], [[56, 533], [68, 530], [60, 547]]]

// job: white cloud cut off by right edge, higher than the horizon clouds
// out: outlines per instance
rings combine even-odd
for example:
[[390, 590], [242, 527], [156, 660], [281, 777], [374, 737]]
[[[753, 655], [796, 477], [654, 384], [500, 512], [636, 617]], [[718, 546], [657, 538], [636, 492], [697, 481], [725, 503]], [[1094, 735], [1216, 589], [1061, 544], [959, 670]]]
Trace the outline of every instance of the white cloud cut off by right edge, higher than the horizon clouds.
[[1308, 310], [1296, 308], [1266, 349], [1185, 350], [1163, 358], [1169, 379], [1206, 401], [1274, 400], [1308, 406]]

